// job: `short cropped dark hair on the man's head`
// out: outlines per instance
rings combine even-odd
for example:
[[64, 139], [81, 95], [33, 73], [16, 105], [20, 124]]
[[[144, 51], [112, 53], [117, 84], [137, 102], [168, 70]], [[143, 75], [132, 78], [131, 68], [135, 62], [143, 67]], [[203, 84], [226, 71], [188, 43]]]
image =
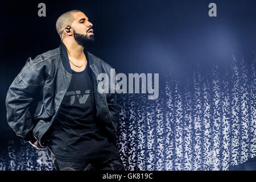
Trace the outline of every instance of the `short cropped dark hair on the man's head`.
[[59, 18], [56, 21], [56, 31], [59, 34], [60, 38], [61, 38], [61, 34], [63, 32], [63, 29], [66, 26], [70, 26], [73, 22], [73, 20], [75, 20], [74, 16], [72, 15], [73, 13], [77, 13], [77, 12], [82, 12], [80, 10], [71, 10], [68, 11], [62, 15], [59, 16]]

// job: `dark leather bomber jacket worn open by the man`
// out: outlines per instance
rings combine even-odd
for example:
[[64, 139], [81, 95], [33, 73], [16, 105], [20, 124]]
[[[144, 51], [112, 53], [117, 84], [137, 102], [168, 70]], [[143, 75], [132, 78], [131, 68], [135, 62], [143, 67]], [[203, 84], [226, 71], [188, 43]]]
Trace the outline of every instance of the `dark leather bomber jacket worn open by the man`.
[[[107, 73], [110, 77], [112, 67], [92, 53], [84, 52], [93, 73], [97, 119], [116, 144], [115, 131], [119, 121], [117, 96], [97, 92], [100, 82], [97, 80], [98, 74]], [[16, 135], [23, 137], [25, 142], [37, 139], [41, 146], [47, 146], [47, 131], [55, 121], [71, 77], [67, 49], [63, 42], [59, 48], [42, 53], [35, 59], [28, 58], [6, 96], [7, 122]]]

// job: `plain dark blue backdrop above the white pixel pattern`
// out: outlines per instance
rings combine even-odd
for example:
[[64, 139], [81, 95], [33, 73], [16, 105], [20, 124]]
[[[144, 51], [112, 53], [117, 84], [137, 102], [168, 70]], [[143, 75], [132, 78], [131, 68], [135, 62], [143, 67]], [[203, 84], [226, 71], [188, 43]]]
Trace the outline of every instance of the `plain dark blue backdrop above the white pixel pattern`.
[[[46, 17], [38, 16], [40, 2], [46, 3]], [[217, 17], [208, 16], [211, 2], [217, 4]], [[56, 19], [72, 9], [83, 11], [93, 23], [96, 42], [90, 52], [117, 72], [159, 73], [162, 92], [166, 73], [186, 86], [196, 65], [202, 75], [216, 65], [224, 75], [232, 70], [232, 55], [243, 55], [250, 68], [255, 52], [253, 0], [1, 2], [0, 148], [17, 138], [6, 122], [7, 89], [28, 57], [59, 46]]]

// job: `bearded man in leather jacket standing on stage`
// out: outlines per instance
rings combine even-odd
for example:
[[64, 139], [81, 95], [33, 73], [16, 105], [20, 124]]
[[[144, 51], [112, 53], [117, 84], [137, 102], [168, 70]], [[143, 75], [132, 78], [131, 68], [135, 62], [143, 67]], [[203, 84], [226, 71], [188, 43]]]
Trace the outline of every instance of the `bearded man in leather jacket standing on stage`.
[[116, 95], [97, 92], [97, 75], [112, 67], [85, 49], [92, 27], [79, 10], [61, 15], [60, 47], [30, 57], [7, 93], [10, 127], [47, 148], [56, 170], [125, 170], [115, 147]]

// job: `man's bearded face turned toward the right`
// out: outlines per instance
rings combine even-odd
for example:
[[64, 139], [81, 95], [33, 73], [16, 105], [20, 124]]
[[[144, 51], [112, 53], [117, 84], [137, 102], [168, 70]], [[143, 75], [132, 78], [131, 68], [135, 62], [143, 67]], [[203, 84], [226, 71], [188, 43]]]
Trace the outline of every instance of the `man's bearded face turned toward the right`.
[[94, 41], [94, 34], [92, 26], [87, 16], [82, 13], [73, 14], [75, 20], [72, 23], [74, 39], [78, 44], [84, 46], [87, 42]]

